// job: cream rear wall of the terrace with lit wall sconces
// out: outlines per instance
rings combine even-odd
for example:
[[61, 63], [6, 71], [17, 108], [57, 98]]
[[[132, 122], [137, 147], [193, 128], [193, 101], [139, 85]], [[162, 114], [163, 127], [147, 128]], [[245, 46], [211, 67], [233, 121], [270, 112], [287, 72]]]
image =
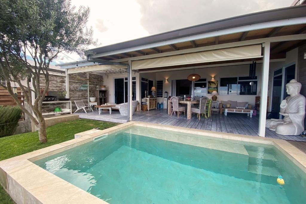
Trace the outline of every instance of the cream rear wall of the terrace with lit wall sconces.
[[[258, 79], [257, 82], [257, 95], [260, 90], [261, 85], [261, 66], [259, 63], [256, 66], [256, 76]], [[193, 69], [187, 70], [176, 70], [176, 71], [165, 71], [165, 72], [153, 72], [146, 73], [153, 75], [155, 73], [156, 80], [163, 80], [163, 92], [167, 91], [168, 94], [171, 94], [171, 81], [179, 79], [187, 79], [189, 74], [193, 73]], [[218, 80], [220, 86], [220, 78], [222, 77], [235, 77], [235, 76], [248, 76], [249, 75], [249, 65], [233, 65], [233, 66], [223, 66], [223, 67], [211, 67], [211, 68], [200, 68], [195, 69], [195, 73], [199, 74], [201, 78], [206, 78], [207, 81], [211, 80], [211, 76], [215, 76], [215, 80]], [[142, 75], [143, 73], [141, 73]], [[165, 82], [165, 79], [168, 79], [168, 82]], [[218, 88], [219, 90], [219, 88]], [[206, 94], [208, 98], [211, 98], [211, 94]], [[238, 102], [248, 102], [251, 105], [255, 105], [255, 96], [256, 95], [218, 95], [218, 101], [238, 101]], [[158, 98], [158, 102], [162, 102], [162, 98]]]

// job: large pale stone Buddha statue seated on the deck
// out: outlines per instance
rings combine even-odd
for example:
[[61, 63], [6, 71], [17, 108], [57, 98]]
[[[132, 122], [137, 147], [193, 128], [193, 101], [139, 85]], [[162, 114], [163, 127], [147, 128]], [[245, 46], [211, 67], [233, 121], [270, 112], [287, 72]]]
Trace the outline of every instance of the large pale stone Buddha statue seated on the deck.
[[266, 120], [266, 127], [280, 135], [300, 135], [304, 131], [306, 99], [300, 95], [302, 84], [290, 80], [286, 84], [289, 96], [281, 102], [280, 113], [284, 119]]

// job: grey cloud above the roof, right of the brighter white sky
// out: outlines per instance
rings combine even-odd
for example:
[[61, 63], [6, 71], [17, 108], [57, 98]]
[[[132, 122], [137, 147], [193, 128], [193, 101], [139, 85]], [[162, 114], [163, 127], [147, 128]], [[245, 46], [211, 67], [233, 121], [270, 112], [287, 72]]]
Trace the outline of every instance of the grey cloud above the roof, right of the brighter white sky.
[[292, 0], [137, 0], [150, 35], [214, 20], [290, 6]]

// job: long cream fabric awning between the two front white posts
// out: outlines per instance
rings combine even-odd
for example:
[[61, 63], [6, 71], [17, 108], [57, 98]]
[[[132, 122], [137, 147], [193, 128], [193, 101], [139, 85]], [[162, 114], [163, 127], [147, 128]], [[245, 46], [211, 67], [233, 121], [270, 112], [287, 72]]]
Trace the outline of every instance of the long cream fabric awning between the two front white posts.
[[260, 44], [132, 61], [132, 69], [148, 69], [155, 67], [187, 65], [203, 62], [252, 59], [262, 57], [261, 48], [262, 46]]

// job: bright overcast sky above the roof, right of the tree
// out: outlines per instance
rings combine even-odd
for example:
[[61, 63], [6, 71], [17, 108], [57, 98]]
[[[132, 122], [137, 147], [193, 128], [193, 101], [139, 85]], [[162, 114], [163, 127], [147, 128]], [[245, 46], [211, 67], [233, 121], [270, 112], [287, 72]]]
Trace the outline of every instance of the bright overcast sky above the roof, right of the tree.
[[[293, 0], [72, 0], [88, 6], [99, 46], [105, 46], [224, 18], [287, 7]], [[94, 47], [90, 47], [94, 48]], [[81, 60], [61, 54], [52, 64]]]

